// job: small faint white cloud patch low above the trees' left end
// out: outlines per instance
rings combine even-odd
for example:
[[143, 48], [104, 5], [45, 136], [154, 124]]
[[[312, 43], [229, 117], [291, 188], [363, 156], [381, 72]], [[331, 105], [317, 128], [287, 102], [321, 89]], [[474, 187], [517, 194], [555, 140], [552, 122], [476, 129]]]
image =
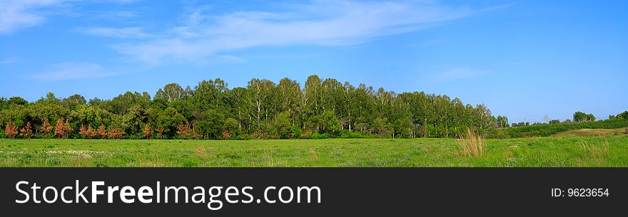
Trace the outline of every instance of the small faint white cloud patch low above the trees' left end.
[[32, 79], [54, 81], [79, 78], [103, 78], [116, 73], [110, 72], [95, 63], [56, 63], [45, 73], [32, 75]]

